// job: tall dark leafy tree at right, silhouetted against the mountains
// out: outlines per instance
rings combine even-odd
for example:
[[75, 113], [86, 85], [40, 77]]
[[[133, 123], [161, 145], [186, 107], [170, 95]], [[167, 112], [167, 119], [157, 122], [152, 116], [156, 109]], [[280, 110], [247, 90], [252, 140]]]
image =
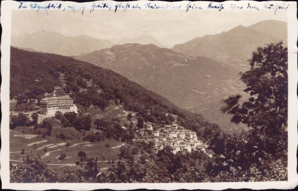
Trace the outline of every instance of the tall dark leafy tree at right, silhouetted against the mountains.
[[288, 144], [288, 49], [282, 42], [258, 48], [249, 64], [250, 70], [242, 74], [241, 80], [250, 97], [240, 106], [240, 95], [229, 96], [222, 111], [233, 115], [232, 122], [251, 128], [251, 152], [278, 156]]

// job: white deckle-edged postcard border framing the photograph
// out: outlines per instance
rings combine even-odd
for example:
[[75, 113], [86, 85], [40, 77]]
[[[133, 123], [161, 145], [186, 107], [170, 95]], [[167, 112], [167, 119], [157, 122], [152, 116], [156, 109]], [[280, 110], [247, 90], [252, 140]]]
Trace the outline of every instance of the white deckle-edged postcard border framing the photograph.
[[[49, 2], [49, 1], [48, 1]], [[63, 2], [65, 5], [73, 5], [71, 1], [51, 1], [55, 3]], [[102, 1], [100, 1], [102, 2]], [[115, 1], [107, 1], [111, 3], [117, 3]], [[137, 3], [145, 1], [132, 1]], [[172, 2], [175, 5], [188, 1]], [[198, 3], [205, 5], [211, 1], [200, 1]], [[224, 3], [236, 3], [238, 5], [247, 4], [248, 1], [224, 1]], [[264, 6], [266, 1], [250, 1], [251, 3]], [[268, 1], [270, 2], [270, 1]], [[285, 1], [275, 1], [274, 3], [284, 3]], [[87, 2], [91, 4], [92, 2]], [[125, 2], [126, 3], [126, 2]], [[168, 2], [154, 1], [160, 5], [165, 5]], [[219, 3], [219, 2], [214, 2]], [[209, 190], [223, 190], [228, 188], [241, 189], [291, 189], [295, 188], [298, 184], [297, 167], [297, 144], [298, 144], [298, 99], [297, 99], [297, 81], [298, 81], [298, 68], [297, 68], [297, 34], [298, 34], [298, 22], [297, 22], [297, 2], [288, 1], [290, 5], [288, 11], [288, 48], [289, 48], [289, 147], [288, 147], [288, 181], [287, 182], [253, 182], [253, 183], [134, 183], [134, 184], [87, 184], [87, 183], [9, 183], [9, 58], [10, 58], [10, 26], [11, 26], [11, 10], [16, 10], [19, 6], [17, 1], [2, 1], [1, 2], [1, 181], [2, 189], [15, 189], [15, 190], [47, 190], [47, 189], [67, 189], [67, 190], [93, 190], [93, 189], [113, 189], [113, 190], [131, 190], [131, 189], [160, 189], [160, 190], [177, 190], [177, 189], [209, 189]], [[130, 11], [130, 10], [126, 10]], [[192, 10], [196, 11], [196, 10]], [[217, 12], [215, 10], [214, 14]]]

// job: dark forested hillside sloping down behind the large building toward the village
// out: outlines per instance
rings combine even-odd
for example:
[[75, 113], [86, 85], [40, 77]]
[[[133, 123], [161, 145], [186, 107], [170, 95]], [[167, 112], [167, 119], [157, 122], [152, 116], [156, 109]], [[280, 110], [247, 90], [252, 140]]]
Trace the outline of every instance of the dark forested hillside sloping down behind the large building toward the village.
[[[111, 100], [119, 100], [124, 108], [138, 112], [148, 122], [168, 121], [167, 113], [177, 115], [178, 123], [197, 132], [209, 141], [221, 128], [206, 121], [201, 115], [185, 111], [167, 99], [129, 81], [115, 72], [70, 57], [30, 52], [11, 48], [10, 97], [41, 99], [44, 93], [61, 86], [59, 76], [65, 74], [65, 91], [72, 91], [74, 102], [88, 107], [91, 104], [104, 109]], [[93, 86], [85, 87], [86, 80]], [[86, 91], [80, 92], [80, 88]], [[98, 90], [101, 93], [98, 93]]]

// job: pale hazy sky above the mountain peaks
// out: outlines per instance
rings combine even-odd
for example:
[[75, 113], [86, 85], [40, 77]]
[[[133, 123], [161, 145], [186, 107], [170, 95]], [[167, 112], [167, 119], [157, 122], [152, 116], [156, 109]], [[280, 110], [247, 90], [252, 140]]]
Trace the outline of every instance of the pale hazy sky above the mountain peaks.
[[30, 33], [40, 29], [65, 36], [89, 35], [98, 39], [117, 41], [143, 34], [154, 37], [172, 48], [196, 37], [218, 34], [238, 25], [249, 26], [263, 20], [287, 21], [285, 13], [273, 11], [221, 11], [209, 10], [127, 10], [126, 12], [97, 10], [80, 11], [31, 10], [12, 12], [12, 35]]

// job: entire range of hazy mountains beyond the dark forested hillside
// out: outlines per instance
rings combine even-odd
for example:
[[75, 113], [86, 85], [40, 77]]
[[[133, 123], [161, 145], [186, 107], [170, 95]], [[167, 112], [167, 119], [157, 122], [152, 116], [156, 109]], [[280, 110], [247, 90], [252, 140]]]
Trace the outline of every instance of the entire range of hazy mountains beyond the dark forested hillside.
[[[40, 39], [39, 36], [51, 37], [52, 40], [42, 38], [43, 43], [39, 43], [36, 40]], [[281, 40], [287, 46], [287, 23], [266, 20], [248, 27], [239, 25], [220, 34], [197, 37], [171, 49], [162, 48], [159, 42], [148, 35], [114, 42], [120, 45], [113, 46], [109, 42], [106, 47], [102, 46], [103, 49], [94, 46], [94, 42], [75, 40], [82, 37], [91, 38], [64, 37], [41, 31], [18, 37], [16, 39], [19, 42], [15, 44], [19, 43], [16, 47], [33, 48], [36, 51], [74, 55], [72, 57], [75, 59], [110, 69], [183, 109], [202, 114], [226, 131], [237, 132], [245, 129], [245, 126], [231, 124], [230, 117], [220, 112], [222, 99], [233, 94], [247, 96], [243, 93], [245, 86], [240, 81], [239, 72], [249, 69], [247, 60], [258, 47]], [[70, 42], [65, 38], [73, 39], [77, 44], [70, 46], [65, 43]], [[98, 40], [96, 45], [99, 46], [101, 41]], [[28, 45], [20, 42], [27, 42]], [[78, 44], [80, 47], [74, 52]], [[84, 44], [88, 46], [81, 46]]]

